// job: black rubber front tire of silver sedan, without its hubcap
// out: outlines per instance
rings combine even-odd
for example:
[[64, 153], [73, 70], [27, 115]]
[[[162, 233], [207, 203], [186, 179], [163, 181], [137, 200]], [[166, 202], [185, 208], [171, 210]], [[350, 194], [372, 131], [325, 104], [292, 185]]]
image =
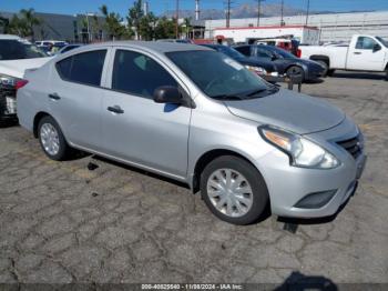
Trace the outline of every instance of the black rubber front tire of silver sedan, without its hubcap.
[[[207, 195], [207, 180], [210, 175], [217, 169], [232, 169], [242, 173], [249, 182], [253, 190], [253, 204], [249, 211], [239, 218], [231, 218], [221, 213], [212, 203]], [[206, 165], [201, 174], [201, 194], [208, 207], [208, 209], [223, 221], [233, 224], [251, 224], [257, 221], [265, 212], [267, 203], [269, 201], [268, 190], [262, 174], [257, 169], [244, 159], [234, 155], [223, 155], [216, 158]]]

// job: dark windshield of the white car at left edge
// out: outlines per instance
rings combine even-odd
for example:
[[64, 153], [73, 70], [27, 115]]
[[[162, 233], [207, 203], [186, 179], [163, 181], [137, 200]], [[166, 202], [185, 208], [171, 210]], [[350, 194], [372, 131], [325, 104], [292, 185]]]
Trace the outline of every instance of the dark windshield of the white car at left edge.
[[49, 57], [37, 46], [19, 40], [0, 40], [0, 60], [19, 60]]

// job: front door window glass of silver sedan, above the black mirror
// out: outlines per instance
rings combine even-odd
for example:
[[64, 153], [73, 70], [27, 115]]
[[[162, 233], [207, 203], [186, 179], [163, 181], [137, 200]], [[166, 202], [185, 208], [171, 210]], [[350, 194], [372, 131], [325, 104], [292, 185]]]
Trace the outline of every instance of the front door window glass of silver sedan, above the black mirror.
[[161, 86], [177, 87], [175, 79], [155, 60], [129, 50], [118, 50], [114, 57], [112, 89], [152, 99]]

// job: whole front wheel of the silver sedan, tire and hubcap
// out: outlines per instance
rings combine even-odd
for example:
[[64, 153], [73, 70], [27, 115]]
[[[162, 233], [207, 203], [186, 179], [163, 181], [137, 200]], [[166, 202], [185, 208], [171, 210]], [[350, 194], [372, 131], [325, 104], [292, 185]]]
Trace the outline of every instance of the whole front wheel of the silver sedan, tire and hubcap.
[[[229, 190], [234, 189], [232, 192], [219, 190], [227, 188], [227, 171], [232, 178], [228, 187]], [[214, 180], [216, 177], [225, 180]], [[233, 188], [233, 182], [236, 182], [236, 188]], [[214, 184], [221, 185], [219, 191], [214, 190]], [[245, 225], [257, 221], [265, 213], [269, 201], [262, 174], [249, 162], [234, 155], [223, 155], [210, 162], [201, 174], [200, 187], [213, 214], [233, 224]]]

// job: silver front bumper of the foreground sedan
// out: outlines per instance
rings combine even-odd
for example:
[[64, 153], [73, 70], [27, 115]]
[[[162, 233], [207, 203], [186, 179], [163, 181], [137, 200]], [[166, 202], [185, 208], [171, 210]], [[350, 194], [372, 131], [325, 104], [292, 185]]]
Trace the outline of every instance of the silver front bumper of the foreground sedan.
[[[349, 126], [349, 122], [340, 127], [346, 126]], [[333, 136], [333, 131], [338, 131], [338, 128], [330, 131]], [[357, 134], [358, 132], [357, 128], [354, 128], [353, 131], [348, 134]], [[318, 136], [320, 139], [325, 139], [325, 134]], [[345, 136], [340, 137], [346, 139]], [[366, 164], [365, 153], [361, 152], [355, 159], [335, 142], [327, 141], [327, 143], [330, 146], [325, 147], [331, 147], [330, 152], [341, 161], [341, 164], [336, 169], [319, 170], [292, 167], [288, 157], [276, 149], [261, 158], [258, 168], [267, 183], [273, 214], [288, 218], [330, 217], [337, 213], [338, 209], [355, 192]], [[300, 201], [304, 201], [308, 195], [328, 192], [331, 192], [333, 195], [324, 204], [297, 207], [303, 204]]]

